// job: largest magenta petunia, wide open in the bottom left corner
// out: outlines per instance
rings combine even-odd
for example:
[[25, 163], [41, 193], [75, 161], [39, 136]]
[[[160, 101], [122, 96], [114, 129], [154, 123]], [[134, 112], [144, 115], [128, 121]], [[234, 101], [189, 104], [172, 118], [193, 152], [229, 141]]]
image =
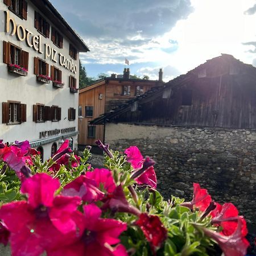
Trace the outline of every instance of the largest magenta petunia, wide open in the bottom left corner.
[[[47, 174], [36, 174], [22, 183], [20, 191], [28, 201], [2, 205], [0, 218], [9, 229], [13, 256], [39, 256], [44, 250], [65, 245], [76, 232], [73, 213], [79, 197], [56, 196], [59, 180]], [[74, 236], [74, 235], [73, 235]]]

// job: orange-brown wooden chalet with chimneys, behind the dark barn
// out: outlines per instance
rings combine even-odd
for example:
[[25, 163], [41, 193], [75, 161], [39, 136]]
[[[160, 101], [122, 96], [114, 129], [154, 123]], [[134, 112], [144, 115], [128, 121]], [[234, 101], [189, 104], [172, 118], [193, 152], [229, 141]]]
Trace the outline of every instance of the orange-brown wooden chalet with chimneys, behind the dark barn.
[[154, 86], [162, 86], [162, 69], [159, 80], [131, 79], [129, 68], [125, 68], [122, 77], [111, 77], [79, 91], [79, 145], [95, 145], [96, 139], [104, 141], [104, 125], [90, 125], [90, 121], [100, 115], [112, 112], [125, 102], [141, 97]]

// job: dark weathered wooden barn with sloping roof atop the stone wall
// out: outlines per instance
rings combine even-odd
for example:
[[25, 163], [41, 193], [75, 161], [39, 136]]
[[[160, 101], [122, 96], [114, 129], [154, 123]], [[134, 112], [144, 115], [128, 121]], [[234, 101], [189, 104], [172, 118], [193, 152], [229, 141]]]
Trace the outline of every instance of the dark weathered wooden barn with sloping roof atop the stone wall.
[[256, 68], [222, 54], [95, 119], [256, 129]]

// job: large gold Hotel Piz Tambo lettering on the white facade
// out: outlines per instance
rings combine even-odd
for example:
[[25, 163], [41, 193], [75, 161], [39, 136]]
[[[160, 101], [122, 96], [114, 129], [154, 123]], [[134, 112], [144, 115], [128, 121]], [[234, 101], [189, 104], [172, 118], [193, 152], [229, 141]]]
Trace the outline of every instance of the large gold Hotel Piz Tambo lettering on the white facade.
[[28, 47], [34, 48], [35, 51], [44, 55], [44, 59], [50, 59], [53, 62], [59, 64], [73, 73], [77, 73], [77, 65], [72, 59], [68, 59], [63, 54], [58, 52], [55, 48], [49, 46], [49, 44], [42, 42], [42, 35], [34, 35], [27, 28], [24, 28], [21, 24], [16, 24], [14, 18], [10, 17], [9, 11], [5, 11], [6, 16], [6, 33], [10, 33], [11, 36], [16, 35], [16, 38], [20, 41], [26, 41]]

